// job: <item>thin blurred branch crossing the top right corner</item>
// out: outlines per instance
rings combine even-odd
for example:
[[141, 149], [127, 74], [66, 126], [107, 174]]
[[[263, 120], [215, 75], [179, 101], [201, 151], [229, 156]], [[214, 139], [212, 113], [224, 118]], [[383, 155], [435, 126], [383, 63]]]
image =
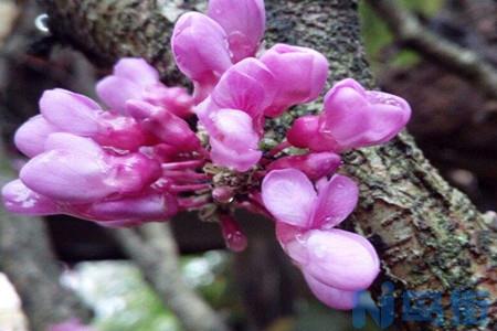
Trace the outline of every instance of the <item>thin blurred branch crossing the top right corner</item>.
[[367, 1], [404, 45], [470, 79], [489, 97], [497, 98], [497, 70], [485, 58], [434, 34], [396, 1]]

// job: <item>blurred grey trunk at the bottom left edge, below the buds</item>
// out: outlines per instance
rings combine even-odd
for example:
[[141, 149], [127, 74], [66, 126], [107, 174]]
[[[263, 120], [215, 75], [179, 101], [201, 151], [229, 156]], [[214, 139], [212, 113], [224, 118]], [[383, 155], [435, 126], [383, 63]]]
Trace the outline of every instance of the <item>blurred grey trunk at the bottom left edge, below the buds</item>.
[[[0, 184], [13, 179], [0, 150]], [[86, 320], [89, 312], [60, 284], [61, 267], [50, 246], [43, 220], [14, 216], [0, 206], [0, 270], [14, 285], [30, 330], [45, 331], [70, 319]]]

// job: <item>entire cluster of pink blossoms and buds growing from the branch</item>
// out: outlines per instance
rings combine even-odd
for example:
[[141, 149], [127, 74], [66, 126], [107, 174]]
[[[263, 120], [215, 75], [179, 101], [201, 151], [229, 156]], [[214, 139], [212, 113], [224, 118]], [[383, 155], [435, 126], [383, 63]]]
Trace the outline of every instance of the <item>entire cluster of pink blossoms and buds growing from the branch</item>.
[[318, 98], [328, 76], [326, 57], [311, 49], [264, 50], [264, 29], [263, 0], [210, 0], [207, 15], [183, 14], [171, 44], [192, 96], [165, 86], [140, 58], [120, 60], [97, 84], [107, 110], [78, 94], [45, 92], [41, 115], [15, 135], [31, 159], [2, 190], [7, 209], [130, 226], [210, 207], [228, 246], [241, 250], [246, 237], [232, 212], [245, 207], [275, 220], [316, 297], [353, 307], [380, 266], [366, 238], [336, 228], [359, 195], [336, 174], [339, 153], [389, 141], [411, 109], [343, 79], [321, 113], [297, 118], [284, 141], [263, 150], [266, 120]]

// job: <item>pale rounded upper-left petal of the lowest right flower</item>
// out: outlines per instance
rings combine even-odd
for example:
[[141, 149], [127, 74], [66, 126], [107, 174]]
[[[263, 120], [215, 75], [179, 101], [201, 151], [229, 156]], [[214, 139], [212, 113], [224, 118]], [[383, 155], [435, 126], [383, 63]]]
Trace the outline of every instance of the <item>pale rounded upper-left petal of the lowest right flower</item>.
[[263, 180], [265, 207], [278, 222], [306, 227], [317, 196], [313, 183], [295, 169], [273, 170]]

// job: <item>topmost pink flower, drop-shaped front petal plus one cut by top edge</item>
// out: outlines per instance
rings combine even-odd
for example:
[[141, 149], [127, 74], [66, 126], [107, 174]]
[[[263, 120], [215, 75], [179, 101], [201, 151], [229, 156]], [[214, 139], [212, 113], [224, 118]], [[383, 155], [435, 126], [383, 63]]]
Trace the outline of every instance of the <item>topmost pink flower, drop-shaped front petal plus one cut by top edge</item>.
[[255, 56], [264, 29], [262, 0], [211, 0], [208, 15], [188, 12], [178, 20], [172, 53], [179, 70], [193, 81], [197, 104], [233, 63]]

